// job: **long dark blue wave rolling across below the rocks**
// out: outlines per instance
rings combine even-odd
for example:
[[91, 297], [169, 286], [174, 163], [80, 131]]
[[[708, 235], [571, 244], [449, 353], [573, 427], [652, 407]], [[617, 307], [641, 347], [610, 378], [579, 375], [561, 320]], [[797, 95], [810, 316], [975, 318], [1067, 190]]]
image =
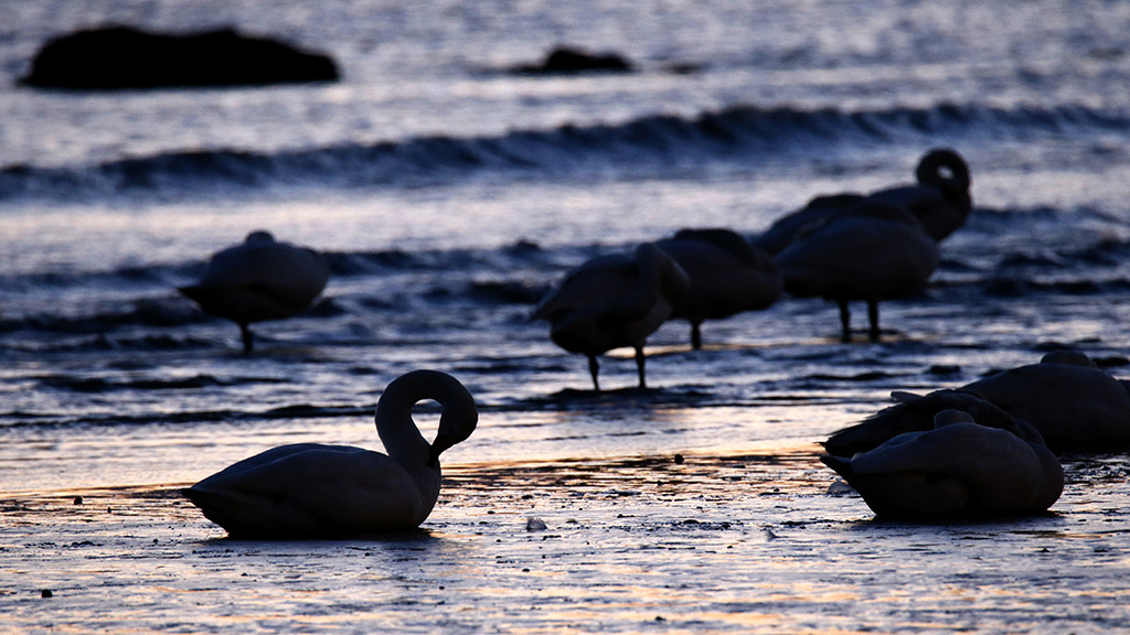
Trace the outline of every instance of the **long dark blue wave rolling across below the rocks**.
[[[695, 118], [654, 115], [615, 125], [563, 125], [498, 137], [424, 137], [260, 154], [194, 150], [98, 165], [0, 169], [0, 201], [90, 195], [183, 197], [218, 189], [420, 185], [498, 172], [553, 177], [647, 169], [688, 160], [757, 160], [825, 153], [829, 145], [923, 145], [1040, 134], [1125, 136], [1130, 115], [1086, 106], [999, 108], [942, 104], [850, 112], [737, 106]], [[927, 139], [923, 139], [925, 137]]]

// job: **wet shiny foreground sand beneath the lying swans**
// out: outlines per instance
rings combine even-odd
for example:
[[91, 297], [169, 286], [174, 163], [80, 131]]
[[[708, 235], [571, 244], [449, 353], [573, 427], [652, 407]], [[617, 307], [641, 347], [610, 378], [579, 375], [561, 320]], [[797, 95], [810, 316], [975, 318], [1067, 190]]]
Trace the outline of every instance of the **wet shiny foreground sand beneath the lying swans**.
[[816, 450], [446, 466], [424, 531], [367, 540], [231, 540], [180, 485], [2, 494], [0, 614], [12, 633], [1130, 628], [1123, 458], [1064, 459], [1046, 515], [919, 525], [875, 521]]

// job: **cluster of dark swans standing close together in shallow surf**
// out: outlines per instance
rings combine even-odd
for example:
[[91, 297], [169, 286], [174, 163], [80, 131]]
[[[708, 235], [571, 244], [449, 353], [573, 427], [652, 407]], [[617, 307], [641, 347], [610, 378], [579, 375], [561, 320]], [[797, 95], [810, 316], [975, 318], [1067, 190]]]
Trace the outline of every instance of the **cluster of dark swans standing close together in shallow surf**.
[[918, 183], [870, 194], [818, 197], [747, 241], [721, 228], [683, 229], [628, 254], [602, 255], [567, 273], [541, 299], [534, 320], [550, 322], [550, 339], [589, 358], [635, 349], [645, 386], [646, 338], [668, 320], [690, 323], [702, 347], [705, 320], [766, 308], [788, 292], [840, 307], [841, 339], [851, 341], [849, 303], [867, 303], [869, 337], [878, 341], [879, 303], [920, 290], [940, 260], [938, 242], [972, 210], [970, 171], [956, 151], [927, 153]]

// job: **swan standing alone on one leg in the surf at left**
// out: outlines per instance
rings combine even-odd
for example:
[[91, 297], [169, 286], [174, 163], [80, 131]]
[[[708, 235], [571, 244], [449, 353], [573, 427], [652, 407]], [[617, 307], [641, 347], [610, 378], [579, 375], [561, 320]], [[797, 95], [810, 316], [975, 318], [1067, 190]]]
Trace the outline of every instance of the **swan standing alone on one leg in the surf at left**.
[[238, 245], [217, 252], [195, 285], [179, 287], [206, 313], [240, 325], [250, 354], [250, 324], [305, 311], [325, 288], [330, 267], [321, 254], [252, 232]]

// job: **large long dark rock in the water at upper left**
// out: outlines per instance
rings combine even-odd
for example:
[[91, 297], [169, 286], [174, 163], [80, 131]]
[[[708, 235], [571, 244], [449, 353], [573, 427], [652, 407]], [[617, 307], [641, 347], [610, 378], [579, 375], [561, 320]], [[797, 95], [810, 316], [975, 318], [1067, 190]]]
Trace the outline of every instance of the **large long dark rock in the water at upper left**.
[[41, 88], [114, 90], [336, 81], [333, 61], [233, 29], [171, 35], [125, 26], [47, 42], [19, 81]]

